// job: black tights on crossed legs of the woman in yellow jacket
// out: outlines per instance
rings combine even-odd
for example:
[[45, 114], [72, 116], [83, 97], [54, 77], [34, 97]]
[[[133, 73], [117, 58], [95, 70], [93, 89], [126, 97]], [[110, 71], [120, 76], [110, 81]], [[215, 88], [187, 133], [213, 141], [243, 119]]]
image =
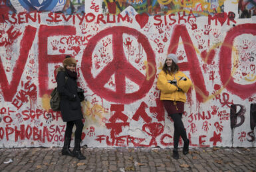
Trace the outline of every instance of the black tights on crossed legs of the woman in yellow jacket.
[[188, 140], [187, 133], [182, 122], [182, 113], [170, 114], [170, 116], [174, 120], [174, 148], [178, 148], [180, 136], [186, 142]]

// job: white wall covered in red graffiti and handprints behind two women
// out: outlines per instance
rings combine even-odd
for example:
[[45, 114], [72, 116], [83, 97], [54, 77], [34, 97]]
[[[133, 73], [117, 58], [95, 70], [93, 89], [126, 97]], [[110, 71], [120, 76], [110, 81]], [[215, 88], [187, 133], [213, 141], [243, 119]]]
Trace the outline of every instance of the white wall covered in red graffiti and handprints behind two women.
[[0, 1], [0, 148], [63, 146], [65, 123], [49, 100], [66, 55], [86, 97], [82, 145], [172, 147], [156, 88], [168, 53], [193, 83], [190, 146], [255, 146], [254, 1], [31, 2]]

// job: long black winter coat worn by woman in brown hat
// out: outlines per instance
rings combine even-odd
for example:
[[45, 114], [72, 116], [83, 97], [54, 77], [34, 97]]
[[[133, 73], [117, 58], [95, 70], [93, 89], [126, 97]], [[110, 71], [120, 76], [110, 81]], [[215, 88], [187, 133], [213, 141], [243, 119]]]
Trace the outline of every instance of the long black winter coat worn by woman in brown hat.
[[[61, 95], [61, 115], [64, 122], [82, 119], [76, 79], [69, 77], [64, 67], [57, 69], [57, 90]], [[76, 99], [72, 99], [76, 95]]]

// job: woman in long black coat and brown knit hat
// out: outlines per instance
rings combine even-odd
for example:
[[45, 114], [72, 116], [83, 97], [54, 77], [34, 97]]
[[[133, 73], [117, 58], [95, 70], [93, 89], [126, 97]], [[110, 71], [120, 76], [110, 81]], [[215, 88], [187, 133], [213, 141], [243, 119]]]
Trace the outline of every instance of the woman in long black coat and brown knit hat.
[[[63, 121], [66, 122], [62, 154], [77, 157], [78, 159], [85, 159], [80, 151], [82, 128], [84, 124], [82, 123], [82, 110], [77, 93], [76, 60], [70, 56], [66, 56], [63, 60], [63, 67], [59, 67], [57, 72], [57, 90], [61, 95], [61, 115]], [[74, 132], [74, 150], [70, 151], [69, 146], [74, 125], [76, 125], [76, 131]]]

